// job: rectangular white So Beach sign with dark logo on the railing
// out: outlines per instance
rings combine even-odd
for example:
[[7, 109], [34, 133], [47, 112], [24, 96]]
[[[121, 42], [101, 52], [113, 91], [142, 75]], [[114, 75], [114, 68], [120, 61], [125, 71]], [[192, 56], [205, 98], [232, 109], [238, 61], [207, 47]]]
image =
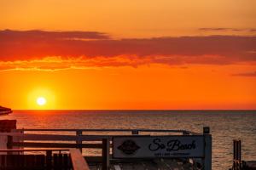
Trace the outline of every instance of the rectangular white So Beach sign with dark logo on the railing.
[[203, 157], [203, 136], [113, 137], [114, 158]]

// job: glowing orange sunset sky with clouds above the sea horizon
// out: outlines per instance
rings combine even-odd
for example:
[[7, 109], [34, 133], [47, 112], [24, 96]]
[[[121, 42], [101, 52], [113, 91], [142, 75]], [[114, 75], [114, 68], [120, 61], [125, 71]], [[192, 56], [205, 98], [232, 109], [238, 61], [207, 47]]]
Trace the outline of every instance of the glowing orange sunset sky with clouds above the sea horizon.
[[255, 7], [254, 0], [1, 0], [0, 105], [256, 109]]

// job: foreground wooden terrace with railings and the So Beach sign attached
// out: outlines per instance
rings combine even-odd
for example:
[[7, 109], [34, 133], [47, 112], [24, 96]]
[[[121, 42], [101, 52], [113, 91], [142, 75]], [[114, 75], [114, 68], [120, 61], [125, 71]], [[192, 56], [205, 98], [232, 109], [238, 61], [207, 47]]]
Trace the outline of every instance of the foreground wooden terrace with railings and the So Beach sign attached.
[[[203, 133], [168, 129], [5, 131], [0, 133], [0, 169], [212, 169], [209, 127]], [[94, 154], [88, 155], [88, 150]]]

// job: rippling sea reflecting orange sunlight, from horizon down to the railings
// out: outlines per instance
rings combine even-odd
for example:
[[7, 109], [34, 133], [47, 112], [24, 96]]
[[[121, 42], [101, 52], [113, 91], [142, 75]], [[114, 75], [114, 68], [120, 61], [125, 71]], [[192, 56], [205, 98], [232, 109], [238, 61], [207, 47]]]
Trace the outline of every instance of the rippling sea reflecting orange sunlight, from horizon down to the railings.
[[152, 128], [201, 133], [211, 127], [212, 169], [231, 167], [232, 140], [243, 160], [256, 160], [256, 111], [14, 111], [19, 128]]

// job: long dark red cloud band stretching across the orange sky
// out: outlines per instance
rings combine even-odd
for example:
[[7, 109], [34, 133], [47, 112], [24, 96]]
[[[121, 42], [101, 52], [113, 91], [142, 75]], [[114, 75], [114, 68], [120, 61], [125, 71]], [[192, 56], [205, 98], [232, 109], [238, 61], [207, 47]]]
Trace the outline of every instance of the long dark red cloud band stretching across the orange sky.
[[96, 31], [0, 31], [0, 70], [255, 63], [256, 37], [113, 39]]

